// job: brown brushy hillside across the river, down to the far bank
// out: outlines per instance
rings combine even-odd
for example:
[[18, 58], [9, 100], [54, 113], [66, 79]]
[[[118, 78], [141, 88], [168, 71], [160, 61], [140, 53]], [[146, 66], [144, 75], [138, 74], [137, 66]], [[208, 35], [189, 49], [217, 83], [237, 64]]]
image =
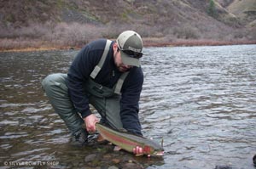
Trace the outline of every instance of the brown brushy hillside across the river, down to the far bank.
[[124, 30], [150, 38], [146, 42], [256, 39], [255, 0], [212, 2], [0, 0], [0, 48], [82, 46], [99, 37], [115, 38]]

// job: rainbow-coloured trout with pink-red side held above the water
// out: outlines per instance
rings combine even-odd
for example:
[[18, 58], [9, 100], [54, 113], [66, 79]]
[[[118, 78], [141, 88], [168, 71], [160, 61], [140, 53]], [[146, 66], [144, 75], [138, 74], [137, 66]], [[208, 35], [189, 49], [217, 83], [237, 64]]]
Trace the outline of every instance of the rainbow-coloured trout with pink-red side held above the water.
[[104, 139], [128, 152], [132, 153], [133, 149], [139, 146], [143, 149], [142, 155], [164, 155], [163, 147], [155, 143], [152, 139], [143, 138], [142, 136], [137, 136], [129, 132], [117, 131], [100, 123], [96, 123], [96, 130], [100, 132]]

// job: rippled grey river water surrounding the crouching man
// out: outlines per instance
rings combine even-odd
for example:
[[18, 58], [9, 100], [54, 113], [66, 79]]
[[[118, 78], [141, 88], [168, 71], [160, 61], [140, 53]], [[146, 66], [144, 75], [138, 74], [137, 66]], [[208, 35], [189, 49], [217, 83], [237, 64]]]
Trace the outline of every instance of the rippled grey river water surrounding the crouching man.
[[[19, 161], [38, 162], [22, 168], [86, 168], [86, 155], [127, 154], [70, 145], [44, 96], [43, 78], [66, 73], [78, 52], [0, 53], [0, 168]], [[145, 48], [144, 54], [143, 135], [163, 138], [165, 155], [129, 158], [144, 168], [255, 168], [256, 45]], [[44, 161], [53, 163], [40, 166]], [[102, 164], [94, 165], [115, 166]]]

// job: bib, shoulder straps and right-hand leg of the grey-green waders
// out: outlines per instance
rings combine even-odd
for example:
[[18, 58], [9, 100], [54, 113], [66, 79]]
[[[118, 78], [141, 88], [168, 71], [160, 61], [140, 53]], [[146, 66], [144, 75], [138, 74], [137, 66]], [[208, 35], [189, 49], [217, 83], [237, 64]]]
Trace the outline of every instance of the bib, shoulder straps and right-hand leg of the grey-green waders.
[[85, 83], [84, 88], [89, 93], [90, 104], [92, 104], [102, 115], [102, 122], [108, 122], [110, 126], [120, 129], [123, 127], [119, 115], [120, 92], [129, 71], [123, 73], [119, 77], [118, 82], [113, 86], [113, 88], [104, 87], [101, 84], [93, 81], [100, 70], [102, 70], [102, 65], [107, 58], [110, 45], [111, 41], [107, 40], [102, 58], [100, 59], [98, 65], [96, 65], [94, 70], [90, 73], [90, 78]]

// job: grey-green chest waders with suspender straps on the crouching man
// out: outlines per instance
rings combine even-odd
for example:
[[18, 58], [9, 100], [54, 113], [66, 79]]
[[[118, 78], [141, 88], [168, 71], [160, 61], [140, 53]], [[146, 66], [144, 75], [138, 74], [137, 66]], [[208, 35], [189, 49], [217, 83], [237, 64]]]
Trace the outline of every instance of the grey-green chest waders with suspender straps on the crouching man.
[[[95, 69], [91, 72], [88, 82], [85, 83], [84, 88], [88, 93], [89, 103], [92, 104], [96, 110], [102, 116], [102, 120], [108, 122], [108, 124], [115, 128], [122, 128], [122, 122], [120, 120], [120, 90], [122, 88], [125, 77], [128, 72], [125, 72], [119, 77], [118, 82], [113, 88], [103, 87], [93, 81], [97, 74], [102, 69], [108, 50], [110, 48], [111, 41], [106, 42], [102, 58]], [[60, 115], [61, 119], [65, 121], [67, 128], [70, 132], [77, 132], [84, 125], [83, 119], [78, 114], [78, 110], [75, 109], [73, 102], [68, 94], [68, 87], [66, 84], [67, 74], [52, 74], [44, 78], [42, 87], [44, 92], [49, 98], [50, 104], [52, 104], [55, 112]]]

